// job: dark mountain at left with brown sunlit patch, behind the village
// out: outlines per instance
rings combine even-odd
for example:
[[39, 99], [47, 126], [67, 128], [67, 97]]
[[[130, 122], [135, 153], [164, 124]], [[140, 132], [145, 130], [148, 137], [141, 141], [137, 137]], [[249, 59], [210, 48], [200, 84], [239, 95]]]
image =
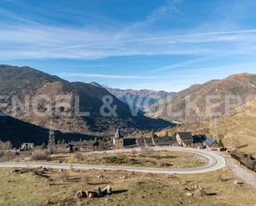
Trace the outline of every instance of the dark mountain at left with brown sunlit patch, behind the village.
[[[51, 109], [59, 110], [61, 113], [55, 113], [53, 116], [53, 127], [60, 132], [80, 132], [84, 134], [108, 134], [115, 127], [128, 127], [134, 129], [157, 129], [167, 127], [169, 122], [152, 119], [138, 115], [133, 117], [127, 105], [120, 102], [113, 94], [106, 89], [95, 86], [93, 84], [85, 84], [80, 82], [70, 83], [59, 77], [43, 73], [29, 67], [16, 67], [10, 65], [0, 65], [0, 94], [8, 97], [17, 97], [24, 102], [27, 98], [27, 105], [31, 111], [32, 103], [36, 102], [36, 98], [46, 95], [50, 98]], [[60, 99], [61, 106], [58, 108], [56, 95], [66, 95], [70, 97], [68, 101]], [[99, 111], [103, 106], [103, 97], [108, 95], [113, 99], [113, 105], [117, 106], [117, 117], [103, 117]], [[80, 111], [89, 112], [89, 117], [75, 116], [75, 97], [80, 97]], [[0, 108], [2, 112], [12, 115], [17, 119], [25, 122], [31, 122], [37, 126], [49, 127], [51, 115], [46, 117], [38, 117], [36, 113], [29, 113], [26, 110], [18, 110], [13, 113], [12, 99], [7, 98], [7, 107]], [[46, 101], [40, 100], [37, 104], [38, 111], [45, 113]], [[105, 110], [104, 110], [105, 111]], [[70, 117], [61, 115], [63, 112], [70, 113]], [[105, 112], [108, 112], [105, 111]]]

